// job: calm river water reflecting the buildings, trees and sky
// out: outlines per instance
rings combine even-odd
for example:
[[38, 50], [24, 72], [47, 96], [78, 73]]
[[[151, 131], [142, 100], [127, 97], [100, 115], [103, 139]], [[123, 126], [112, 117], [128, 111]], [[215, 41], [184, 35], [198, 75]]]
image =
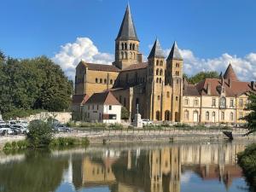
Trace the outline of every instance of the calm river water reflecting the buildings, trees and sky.
[[247, 191], [236, 164], [246, 145], [133, 144], [0, 154], [0, 192]]

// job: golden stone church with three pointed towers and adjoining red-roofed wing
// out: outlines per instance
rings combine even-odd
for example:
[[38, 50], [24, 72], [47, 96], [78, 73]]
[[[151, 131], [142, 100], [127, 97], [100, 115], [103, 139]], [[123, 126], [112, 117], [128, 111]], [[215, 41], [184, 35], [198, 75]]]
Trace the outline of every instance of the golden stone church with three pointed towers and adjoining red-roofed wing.
[[80, 61], [76, 67], [73, 119], [87, 120], [84, 103], [95, 93], [110, 91], [127, 108], [130, 119], [138, 106], [143, 119], [154, 121], [244, 123], [240, 118], [247, 113], [247, 95], [256, 84], [239, 81], [231, 64], [219, 79], [189, 84], [183, 79], [183, 57], [176, 42], [166, 58], [156, 39], [146, 62], [139, 45], [128, 5], [112, 65]]

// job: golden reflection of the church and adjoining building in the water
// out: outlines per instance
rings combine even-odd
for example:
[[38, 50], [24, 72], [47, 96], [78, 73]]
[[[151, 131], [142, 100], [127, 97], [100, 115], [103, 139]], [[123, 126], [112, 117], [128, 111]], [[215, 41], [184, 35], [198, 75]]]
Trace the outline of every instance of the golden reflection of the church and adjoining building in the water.
[[73, 184], [76, 189], [105, 186], [112, 192], [179, 192], [182, 173], [192, 171], [228, 189], [233, 178], [241, 177], [236, 154], [243, 149], [234, 144], [173, 145], [85, 155], [73, 160]]

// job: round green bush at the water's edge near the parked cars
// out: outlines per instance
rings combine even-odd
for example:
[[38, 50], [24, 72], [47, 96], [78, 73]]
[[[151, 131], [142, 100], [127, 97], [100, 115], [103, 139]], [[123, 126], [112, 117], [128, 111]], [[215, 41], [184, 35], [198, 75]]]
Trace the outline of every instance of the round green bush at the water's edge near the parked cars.
[[42, 120], [34, 120], [30, 123], [28, 129], [29, 132], [26, 135], [26, 140], [29, 147], [41, 148], [49, 146], [53, 137], [51, 123]]

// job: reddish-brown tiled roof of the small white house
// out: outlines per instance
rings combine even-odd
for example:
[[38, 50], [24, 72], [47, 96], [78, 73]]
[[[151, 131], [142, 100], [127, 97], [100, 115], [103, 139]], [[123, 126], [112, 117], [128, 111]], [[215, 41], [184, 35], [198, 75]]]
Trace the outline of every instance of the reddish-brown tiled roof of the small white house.
[[121, 105], [110, 91], [94, 93], [85, 104]]

